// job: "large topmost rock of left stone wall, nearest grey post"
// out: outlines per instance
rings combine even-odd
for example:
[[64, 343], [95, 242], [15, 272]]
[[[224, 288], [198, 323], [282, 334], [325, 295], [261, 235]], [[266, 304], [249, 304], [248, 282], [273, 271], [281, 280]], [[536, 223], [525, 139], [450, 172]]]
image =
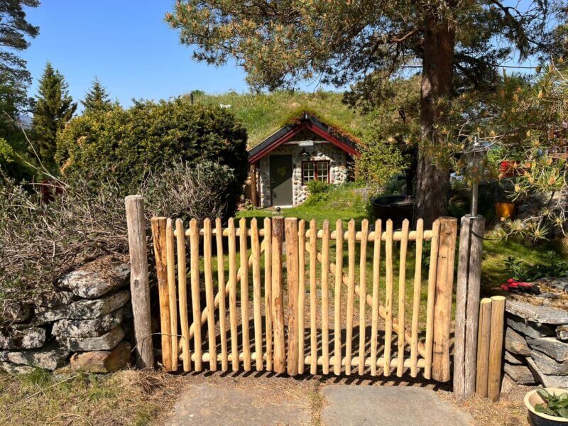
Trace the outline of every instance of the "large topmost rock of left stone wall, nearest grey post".
[[127, 263], [106, 256], [68, 273], [60, 285], [79, 297], [95, 299], [123, 287], [129, 275]]

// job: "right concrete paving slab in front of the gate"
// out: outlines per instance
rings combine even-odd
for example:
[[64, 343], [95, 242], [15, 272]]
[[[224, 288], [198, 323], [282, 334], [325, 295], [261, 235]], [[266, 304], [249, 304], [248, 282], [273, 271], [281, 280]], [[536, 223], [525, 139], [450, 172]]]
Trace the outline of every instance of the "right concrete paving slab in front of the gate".
[[473, 418], [434, 391], [402, 386], [325, 386], [324, 425], [463, 426]]

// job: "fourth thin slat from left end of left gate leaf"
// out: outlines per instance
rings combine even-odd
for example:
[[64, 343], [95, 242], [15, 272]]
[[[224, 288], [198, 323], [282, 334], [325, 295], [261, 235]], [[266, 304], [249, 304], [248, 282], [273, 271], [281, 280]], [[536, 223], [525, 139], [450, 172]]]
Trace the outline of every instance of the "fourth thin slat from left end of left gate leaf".
[[217, 337], [215, 334], [215, 295], [211, 253], [211, 220], [203, 221], [203, 271], [205, 275], [205, 301], [207, 303], [207, 339], [209, 340], [209, 368], [217, 370]]

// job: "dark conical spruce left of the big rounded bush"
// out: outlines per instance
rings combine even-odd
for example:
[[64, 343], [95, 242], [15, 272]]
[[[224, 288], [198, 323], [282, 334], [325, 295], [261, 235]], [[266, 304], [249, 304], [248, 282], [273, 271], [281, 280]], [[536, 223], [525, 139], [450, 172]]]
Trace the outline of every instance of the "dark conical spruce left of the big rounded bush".
[[55, 170], [57, 133], [71, 119], [77, 104], [70, 97], [65, 77], [48, 62], [40, 79], [33, 112], [33, 132], [43, 166]]

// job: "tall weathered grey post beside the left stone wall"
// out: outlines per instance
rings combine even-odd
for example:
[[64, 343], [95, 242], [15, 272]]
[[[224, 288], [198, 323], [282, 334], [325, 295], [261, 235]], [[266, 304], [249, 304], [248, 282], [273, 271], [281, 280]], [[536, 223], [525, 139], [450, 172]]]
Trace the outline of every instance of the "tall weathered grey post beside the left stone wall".
[[130, 293], [134, 321], [134, 351], [139, 368], [153, 368], [152, 327], [150, 315], [150, 284], [148, 283], [148, 250], [144, 197], [129, 195], [126, 205], [126, 226], [129, 232]]

